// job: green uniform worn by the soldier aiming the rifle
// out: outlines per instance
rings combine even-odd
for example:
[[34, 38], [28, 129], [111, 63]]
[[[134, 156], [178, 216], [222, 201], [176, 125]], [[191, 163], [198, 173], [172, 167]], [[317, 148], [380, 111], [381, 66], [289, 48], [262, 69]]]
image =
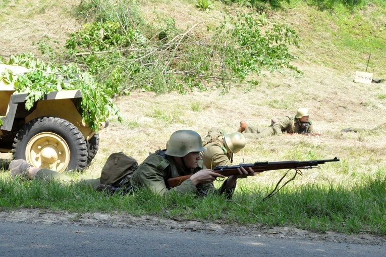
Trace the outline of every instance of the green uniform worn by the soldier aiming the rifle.
[[[130, 185], [134, 188], [149, 187], [150, 190], [161, 195], [168, 194], [171, 191], [176, 191], [179, 193], [206, 193], [209, 191], [213, 191], [215, 193], [226, 193], [229, 196], [232, 195], [232, 191], [234, 190], [234, 188], [232, 188], [231, 190], [225, 189], [224, 185], [226, 181], [219, 189], [216, 189], [213, 183], [198, 184], [197, 186], [195, 186], [192, 180], [190, 179], [185, 180], [181, 185], [177, 187], [168, 187], [168, 178], [193, 174], [202, 169], [205, 169], [202, 160], [199, 161], [197, 168], [186, 170], [180, 167], [177, 163], [175, 163], [173, 157], [165, 156], [164, 158], [160, 155], [157, 155], [156, 153], [152, 153], [132, 174]], [[39, 170], [36, 173], [35, 179], [44, 179], [48, 182], [55, 180], [60, 181], [62, 183], [87, 184], [92, 188], [95, 188], [100, 185], [100, 178], [92, 179], [87, 176], [81, 176], [77, 180], [73, 180], [62, 173], [49, 169]]]

